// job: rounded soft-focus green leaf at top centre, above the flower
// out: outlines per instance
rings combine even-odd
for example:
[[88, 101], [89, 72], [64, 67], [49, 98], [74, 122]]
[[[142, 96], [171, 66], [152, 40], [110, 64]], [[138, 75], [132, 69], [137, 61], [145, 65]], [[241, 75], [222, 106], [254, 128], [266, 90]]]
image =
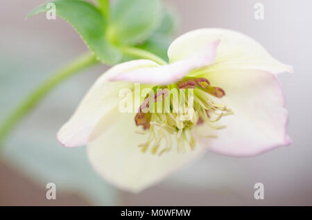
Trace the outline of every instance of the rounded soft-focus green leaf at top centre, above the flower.
[[108, 37], [114, 44], [139, 44], [154, 33], [161, 19], [159, 0], [116, 0], [110, 11]]

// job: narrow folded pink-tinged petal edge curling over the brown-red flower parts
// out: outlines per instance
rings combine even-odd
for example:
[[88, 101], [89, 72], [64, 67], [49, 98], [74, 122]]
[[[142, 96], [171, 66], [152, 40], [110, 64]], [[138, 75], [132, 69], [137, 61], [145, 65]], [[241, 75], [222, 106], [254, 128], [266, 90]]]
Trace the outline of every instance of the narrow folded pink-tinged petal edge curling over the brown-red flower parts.
[[216, 48], [219, 41], [216, 40], [206, 45], [202, 45], [198, 50], [193, 51], [187, 57], [155, 68], [140, 68], [134, 71], [128, 71], [121, 75], [111, 77], [111, 81], [138, 82], [143, 84], [165, 85], [177, 82], [184, 75], [197, 68], [211, 65], [216, 57]]

